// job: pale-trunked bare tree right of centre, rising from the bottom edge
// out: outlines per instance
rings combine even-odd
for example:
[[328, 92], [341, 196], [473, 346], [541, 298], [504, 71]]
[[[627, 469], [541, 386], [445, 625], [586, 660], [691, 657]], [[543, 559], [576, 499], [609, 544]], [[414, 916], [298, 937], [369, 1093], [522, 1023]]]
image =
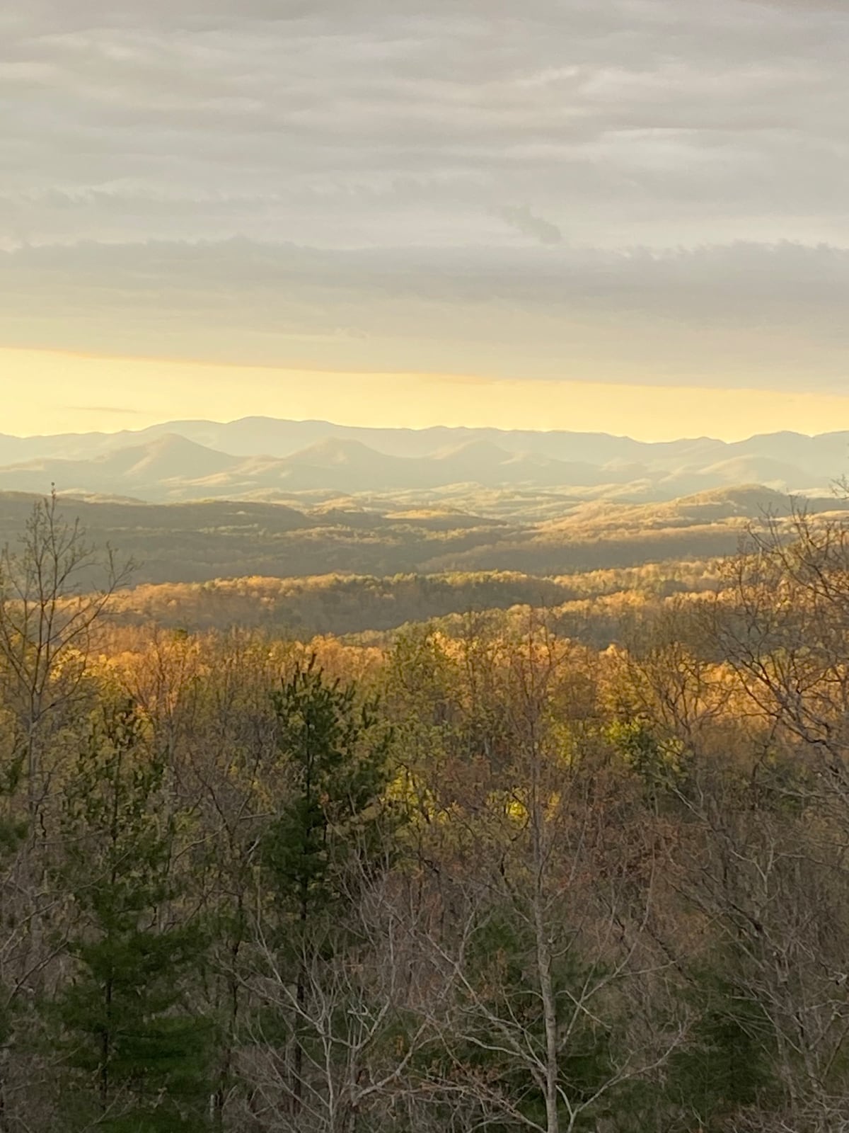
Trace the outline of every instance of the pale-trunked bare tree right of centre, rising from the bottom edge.
[[594, 740], [582, 651], [532, 619], [492, 664], [477, 688], [504, 709], [490, 716], [501, 734], [481, 739], [465, 792], [452, 785], [432, 824], [441, 917], [420, 948], [454, 994], [424, 1008], [444, 1057], [421, 1085], [463, 1099], [469, 1128], [569, 1133], [681, 1039], [649, 1017], [674, 974], [645, 931], [659, 850]]

